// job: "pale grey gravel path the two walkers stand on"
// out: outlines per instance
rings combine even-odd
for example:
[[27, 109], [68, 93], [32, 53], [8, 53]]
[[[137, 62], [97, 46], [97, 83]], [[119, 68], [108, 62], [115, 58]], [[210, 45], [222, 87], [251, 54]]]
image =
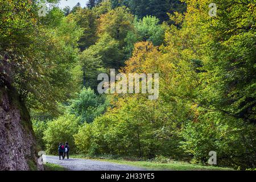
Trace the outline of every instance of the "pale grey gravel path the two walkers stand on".
[[146, 171], [142, 168], [98, 160], [72, 158], [59, 160], [59, 156], [47, 156], [46, 160], [48, 163], [59, 164], [71, 171]]

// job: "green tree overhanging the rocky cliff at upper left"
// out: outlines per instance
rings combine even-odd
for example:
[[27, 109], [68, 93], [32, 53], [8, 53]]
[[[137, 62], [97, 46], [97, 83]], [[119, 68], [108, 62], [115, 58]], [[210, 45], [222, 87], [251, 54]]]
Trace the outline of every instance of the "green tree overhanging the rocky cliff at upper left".
[[[22, 11], [25, 10], [20, 10]], [[0, 63], [0, 71], [1, 81], [5, 82], [6, 86], [13, 84], [20, 97], [26, 100], [29, 109], [55, 113], [56, 102], [64, 101], [68, 96], [66, 88], [73, 87], [69, 71], [76, 62], [77, 40], [81, 30], [75, 22], [64, 19], [59, 9], [53, 9], [48, 15], [55, 20], [57, 16], [60, 20], [46, 22], [42, 18], [45, 26], [26, 23], [27, 28], [15, 29], [14, 34], [1, 38], [4, 45], [1, 46], [3, 61]], [[20, 17], [22, 16], [17, 16]], [[11, 17], [6, 15], [4, 19], [8, 18]], [[22, 28], [21, 22], [33, 21], [36, 19], [28, 18], [18, 22]], [[31, 28], [30, 31], [28, 28]], [[11, 32], [14, 29], [5, 31]], [[1, 35], [7, 35], [5, 31]]]

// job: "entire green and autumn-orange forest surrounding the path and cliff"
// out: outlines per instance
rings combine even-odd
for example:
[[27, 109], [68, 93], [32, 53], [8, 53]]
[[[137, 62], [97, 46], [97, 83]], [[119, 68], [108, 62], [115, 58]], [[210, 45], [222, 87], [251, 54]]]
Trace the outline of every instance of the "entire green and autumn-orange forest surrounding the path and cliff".
[[[255, 0], [58, 3], [0, 0], [0, 87], [24, 101], [38, 151], [206, 166], [216, 151], [256, 168]], [[110, 69], [159, 73], [158, 99], [99, 94]]]

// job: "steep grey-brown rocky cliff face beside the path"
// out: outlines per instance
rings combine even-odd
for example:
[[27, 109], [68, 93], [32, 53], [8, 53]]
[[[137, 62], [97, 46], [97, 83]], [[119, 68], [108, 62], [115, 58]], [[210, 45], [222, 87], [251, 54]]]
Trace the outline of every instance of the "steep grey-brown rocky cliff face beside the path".
[[0, 170], [42, 170], [30, 115], [19, 94], [0, 85]]

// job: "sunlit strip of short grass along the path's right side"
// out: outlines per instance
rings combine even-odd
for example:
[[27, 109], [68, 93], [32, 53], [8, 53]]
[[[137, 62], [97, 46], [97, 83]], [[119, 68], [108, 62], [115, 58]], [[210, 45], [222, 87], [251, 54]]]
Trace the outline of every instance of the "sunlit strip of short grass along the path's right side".
[[80, 158], [80, 159], [93, 159], [100, 160], [105, 162], [117, 163], [117, 164], [126, 164], [129, 166], [135, 166], [139, 168], [149, 169], [149, 170], [171, 170], [171, 171], [233, 171], [232, 168], [224, 168], [224, 167], [214, 167], [214, 166], [201, 166], [199, 164], [190, 164], [187, 162], [176, 162], [170, 161], [168, 163], [161, 163], [155, 161], [130, 161], [123, 159], [95, 159], [89, 158], [82, 155], [73, 155], [72, 158]]

